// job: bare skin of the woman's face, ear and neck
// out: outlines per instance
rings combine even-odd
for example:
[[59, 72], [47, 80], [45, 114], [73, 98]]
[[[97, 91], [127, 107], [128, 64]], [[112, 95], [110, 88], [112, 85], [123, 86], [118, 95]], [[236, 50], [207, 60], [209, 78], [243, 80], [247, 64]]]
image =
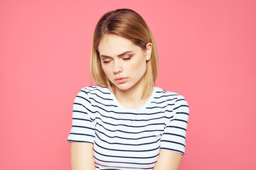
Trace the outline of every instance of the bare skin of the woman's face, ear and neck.
[[142, 99], [142, 77], [150, 60], [152, 44], [146, 49], [117, 35], [104, 35], [98, 47], [102, 69], [115, 86], [114, 96], [126, 108], [139, 108], [149, 99]]

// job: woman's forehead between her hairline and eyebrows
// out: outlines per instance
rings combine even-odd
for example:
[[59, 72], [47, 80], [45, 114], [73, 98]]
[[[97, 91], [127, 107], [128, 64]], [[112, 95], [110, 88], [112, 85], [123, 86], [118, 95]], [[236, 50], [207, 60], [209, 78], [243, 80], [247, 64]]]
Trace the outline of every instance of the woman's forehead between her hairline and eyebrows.
[[100, 40], [98, 51], [100, 55], [119, 55], [125, 51], [137, 51], [140, 47], [134, 45], [127, 38], [118, 35], [103, 35]]

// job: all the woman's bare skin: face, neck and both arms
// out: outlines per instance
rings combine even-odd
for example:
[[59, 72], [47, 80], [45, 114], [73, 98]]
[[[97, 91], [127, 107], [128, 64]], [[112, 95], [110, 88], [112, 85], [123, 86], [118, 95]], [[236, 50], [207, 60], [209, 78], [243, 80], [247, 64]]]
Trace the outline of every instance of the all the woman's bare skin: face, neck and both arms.
[[[140, 108], [151, 94], [142, 99], [143, 76], [146, 61], [150, 60], [152, 44], [146, 49], [134, 45], [130, 40], [117, 35], [104, 35], [98, 47], [102, 69], [115, 86], [114, 96], [126, 108]], [[177, 170], [182, 154], [160, 149], [154, 170]], [[73, 170], [95, 170], [93, 145], [86, 142], [71, 142], [71, 164]]]

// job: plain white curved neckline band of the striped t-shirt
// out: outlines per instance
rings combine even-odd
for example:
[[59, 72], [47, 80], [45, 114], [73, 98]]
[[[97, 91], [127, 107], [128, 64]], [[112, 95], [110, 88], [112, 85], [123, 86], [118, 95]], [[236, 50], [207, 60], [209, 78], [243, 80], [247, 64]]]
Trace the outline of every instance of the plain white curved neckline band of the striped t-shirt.
[[144, 103], [143, 106], [139, 107], [139, 108], [126, 108], [124, 106], [122, 106], [122, 104], [119, 103], [119, 101], [117, 101], [117, 98], [114, 96], [114, 94], [112, 93], [112, 91], [110, 91], [109, 88], [107, 88], [107, 90], [110, 92], [110, 95], [112, 96], [112, 99], [114, 100], [114, 102], [117, 104], [117, 106], [119, 108], [122, 108], [122, 109], [125, 109], [125, 110], [128, 110], [128, 111], [138, 111], [138, 110], [142, 110], [144, 108], [146, 108], [150, 103], [151, 101], [153, 100], [155, 94], [156, 94], [156, 87], [154, 87], [153, 91], [152, 91], [152, 94], [149, 98], [148, 101], [146, 101], [146, 103]]

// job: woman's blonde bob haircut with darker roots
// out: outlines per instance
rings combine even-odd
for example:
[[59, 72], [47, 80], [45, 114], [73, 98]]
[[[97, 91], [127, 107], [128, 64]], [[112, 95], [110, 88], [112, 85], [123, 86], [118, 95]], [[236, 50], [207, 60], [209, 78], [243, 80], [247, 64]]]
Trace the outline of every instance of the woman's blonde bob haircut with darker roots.
[[158, 53], [154, 37], [146, 25], [146, 22], [139, 14], [131, 9], [121, 8], [115, 11], [105, 13], [97, 23], [92, 39], [92, 53], [90, 58], [90, 73], [97, 85], [112, 87], [114, 92], [114, 84], [107, 78], [102, 69], [98, 46], [102, 36], [105, 34], [118, 35], [127, 38], [134, 45], [146, 49], [148, 42], [152, 43], [151, 58], [146, 62], [146, 72], [144, 79], [144, 91], [142, 98], [148, 96], [154, 88], [154, 82], [158, 74]]

